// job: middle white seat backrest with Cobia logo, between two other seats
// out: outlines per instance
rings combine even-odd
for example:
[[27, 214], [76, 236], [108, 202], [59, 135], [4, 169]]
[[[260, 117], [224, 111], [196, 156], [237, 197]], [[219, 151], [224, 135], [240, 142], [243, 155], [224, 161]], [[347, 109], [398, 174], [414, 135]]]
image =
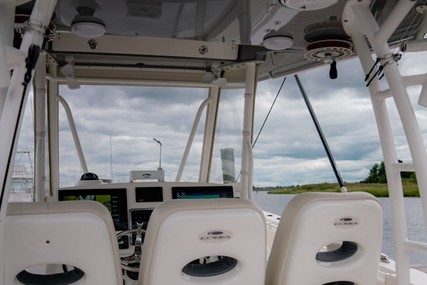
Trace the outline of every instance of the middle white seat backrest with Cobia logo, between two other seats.
[[264, 284], [263, 212], [244, 199], [171, 200], [150, 217], [139, 284]]

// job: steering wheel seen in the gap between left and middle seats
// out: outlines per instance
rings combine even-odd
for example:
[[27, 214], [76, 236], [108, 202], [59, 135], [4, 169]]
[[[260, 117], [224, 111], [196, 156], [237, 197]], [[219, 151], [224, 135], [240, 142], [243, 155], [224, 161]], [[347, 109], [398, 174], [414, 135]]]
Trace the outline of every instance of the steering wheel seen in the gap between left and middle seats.
[[145, 234], [145, 230], [142, 228], [144, 223], [136, 223], [135, 229], [126, 230], [117, 234], [117, 239], [120, 239], [122, 236], [135, 234], [135, 247], [133, 253], [129, 256], [124, 256], [120, 258], [120, 263], [122, 269], [130, 272], [139, 272], [139, 267], [141, 263], [142, 256], [142, 234]]

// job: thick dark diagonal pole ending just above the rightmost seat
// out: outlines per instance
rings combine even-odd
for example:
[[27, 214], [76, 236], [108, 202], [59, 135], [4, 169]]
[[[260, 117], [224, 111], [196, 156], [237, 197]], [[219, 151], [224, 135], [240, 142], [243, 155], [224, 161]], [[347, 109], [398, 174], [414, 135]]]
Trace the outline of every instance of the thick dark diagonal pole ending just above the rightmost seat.
[[313, 119], [314, 126], [316, 127], [317, 133], [319, 134], [320, 140], [322, 141], [323, 148], [326, 151], [326, 154], [329, 159], [329, 163], [332, 166], [332, 170], [334, 171], [335, 177], [337, 178], [338, 184], [340, 185], [340, 189], [342, 192], [347, 192], [347, 187], [345, 187], [345, 183], [341, 177], [341, 174], [338, 170], [338, 167], [335, 163], [335, 159], [332, 155], [331, 149], [329, 148], [328, 142], [326, 141], [325, 135], [323, 134], [322, 128], [320, 127], [319, 121], [317, 120], [316, 114], [314, 113], [313, 107], [311, 106], [310, 100], [308, 99], [307, 93], [305, 93], [304, 87], [299, 80], [297, 74], [294, 75], [295, 80], [298, 84], [298, 88], [301, 91], [302, 97], [304, 98], [305, 104], [307, 105], [307, 109], [310, 112], [310, 116]]

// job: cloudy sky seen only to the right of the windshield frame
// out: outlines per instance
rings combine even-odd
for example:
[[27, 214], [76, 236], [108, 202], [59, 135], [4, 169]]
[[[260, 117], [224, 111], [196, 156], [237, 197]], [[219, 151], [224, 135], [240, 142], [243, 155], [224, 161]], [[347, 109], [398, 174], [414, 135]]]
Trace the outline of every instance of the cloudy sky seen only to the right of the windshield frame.
[[[382, 160], [379, 135], [360, 64], [356, 60], [348, 60], [340, 63], [339, 68], [342, 72], [337, 80], [326, 78], [327, 67], [305, 72], [299, 77], [344, 180], [360, 181], [369, 174], [373, 163]], [[407, 74], [414, 73], [407, 63], [401, 64], [401, 68]], [[261, 107], [264, 116], [269, 108], [265, 102], [273, 101], [275, 94], [272, 87], [277, 89], [278, 85], [279, 83], [275, 82], [259, 88], [259, 95], [265, 101], [258, 107]], [[416, 105], [417, 95], [411, 94], [417, 94], [417, 91], [419, 92], [419, 87], [409, 88], [410, 98], [425, 138], [426, 111]], [[313, 122], [307, 115], [305, 105], [301, 103], [303, 99], [292, 77], [287, 79], [282, 93], [273, 108], [263, 136], [259, 139], [260, 146], [254, 150], [255, 156], [258, 157], [254, 181], [260, 186], [271, 186], [269, 181], [285, 182], [282, 185], [335, 181]], [[410, 161], [398, 112], [393, 107], [393, 102], [390, 102], [391, 99], [387, 101], [398, 157]], [[322, 165], [324, 168], [320, 167]], [[277, 175], [279, 170], [281, 175]]]

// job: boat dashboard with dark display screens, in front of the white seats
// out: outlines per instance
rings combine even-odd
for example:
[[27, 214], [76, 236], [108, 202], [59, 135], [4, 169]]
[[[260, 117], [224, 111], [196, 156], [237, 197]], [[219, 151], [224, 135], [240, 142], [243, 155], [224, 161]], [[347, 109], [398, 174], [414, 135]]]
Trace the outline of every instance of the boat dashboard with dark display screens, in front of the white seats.
[[[136, 228], [143, 223], [147, 228], [151, 213], [163, 201], [171, 199], [240, 198], [235, 184], [189, 182], [89, 182], [58, 190], [58, 201], [93, 200], [103, 204], [111, 213], [117, 232]], [[119, 243], [121, 249], [129, 241]]]

